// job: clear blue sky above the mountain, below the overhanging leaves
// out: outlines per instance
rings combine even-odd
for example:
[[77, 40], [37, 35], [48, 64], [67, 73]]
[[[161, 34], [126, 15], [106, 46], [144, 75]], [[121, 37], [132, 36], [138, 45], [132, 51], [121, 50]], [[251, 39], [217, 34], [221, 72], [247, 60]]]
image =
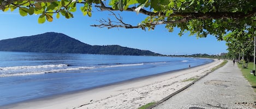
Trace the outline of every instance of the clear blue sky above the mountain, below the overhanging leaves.
[[[79, 9], [79, 8], [78, 8]], [[145, 15], [136, 12], [117, 12], [123, 17], [123, 21], [137, 25]], [[46, 32], [63, 33], [81, 42], [91, 45], [113, 45], [123, 47], [150, 50], [151, 52], [165, 55], [185, 54], [219, 54], [227, 53], [224, 41], [217, 41], [215, 36], [197, 38], [187, 34], [178, 36], [180, 30], [175, 28], [172, 33], [164, 28], [165, 25], [157, 25], [154, 30], [124, 29], [124, 28], [96, 28], [90, 25], [99, 24], [100, 18], [108, 18], [109, 11], [92, 12], [92, 17], [83, 16], [80, 10], [74, 13], [74, 18], [59, 19], [53, 15], [52, 22], [38, 23], [39, 15], [22, 17], [17, 9], [13, 12], [0, 12], [0, 40], [11, 39], [20, 36], [31, 36]]]

